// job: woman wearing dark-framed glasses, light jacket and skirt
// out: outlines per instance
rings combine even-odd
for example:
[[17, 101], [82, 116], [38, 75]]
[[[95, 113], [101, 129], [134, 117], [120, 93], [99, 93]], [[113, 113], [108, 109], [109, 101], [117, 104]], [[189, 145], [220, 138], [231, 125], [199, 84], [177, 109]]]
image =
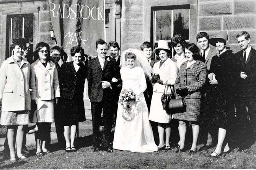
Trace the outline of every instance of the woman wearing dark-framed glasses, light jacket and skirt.
[[[54, 122], [54, 98], [60, 97], [58, 72], [51, 62], [50, 47], [44, 42], [36, 45], [37, 59], [31, 65], [31, 108], [35, 110], [31, 122], [36, 122], [36, 155], [51, 153], [46, 145], [51, 141], [51, 123]], [[56, 103], [57, 103], [56, 99]]]

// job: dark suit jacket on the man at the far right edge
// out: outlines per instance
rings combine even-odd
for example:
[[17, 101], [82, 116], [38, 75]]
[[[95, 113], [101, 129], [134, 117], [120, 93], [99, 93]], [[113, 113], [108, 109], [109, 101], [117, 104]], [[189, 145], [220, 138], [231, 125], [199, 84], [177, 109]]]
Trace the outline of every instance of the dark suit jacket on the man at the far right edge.
[[[251, 51], [249, 52], [248, 58], [246, 60], [246, 63], [243, 63], [243, 50], [237, 52], [236, 57], [239, 61], [239, 71], [245, 72], [245, 74], [248, 76], [247, 79], [239, 79], [238, 86], [238, 92], [243, 97], [253, 97], [254, 99], [256, 94], [256, 50], [251, 48]], [[242, 96], [241, 96], [242, 97]]]

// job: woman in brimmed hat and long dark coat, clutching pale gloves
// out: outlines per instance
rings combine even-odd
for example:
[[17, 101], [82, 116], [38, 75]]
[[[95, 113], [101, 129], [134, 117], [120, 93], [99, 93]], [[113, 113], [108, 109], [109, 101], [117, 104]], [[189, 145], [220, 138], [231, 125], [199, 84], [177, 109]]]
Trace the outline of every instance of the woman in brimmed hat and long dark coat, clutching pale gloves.
[[[236, 66], [236, 57], [228, 46], [228, 34], [220, 31], [215, 38], [210, 39], [210, 44], [217, 47], [218, 52], [212, 58], [208, 74], [210, 86], [207, 89], [207, 123], [212, 128], [218, 128], [218, 143], [214, 152], [210, 155], [218, 157], [230, 152], [230, 148], [224, 139], [228, 139], [230, 125], [235, 118], [234, 84], [240, 77], [240, 70]], [[222, 152], [222, 145], [225, 144]]]

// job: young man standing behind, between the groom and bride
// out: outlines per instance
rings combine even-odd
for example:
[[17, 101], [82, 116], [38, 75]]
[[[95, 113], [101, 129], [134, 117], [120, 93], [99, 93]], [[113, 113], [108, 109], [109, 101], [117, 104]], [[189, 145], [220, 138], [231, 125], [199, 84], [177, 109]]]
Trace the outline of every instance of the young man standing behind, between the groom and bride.
[[[120, 72], [120, 55], [119, 55], [119, 45], [116, 41], [110, 41], [108, 43], [108, 50], [110, 52], [110, 58], [113, 58], [117, 62], [117, 70]], [[117, 79], [116, 79], [117, 81]], [[119, 100], [119, 94], [122, 90], [122, 81], [118, 82], [116, 87], [113, 87], [113, 96], [115, 98], [115, 104], [114, 104], [114, 124], [116, 124], [116, 115], [117, 115], [117, 106], [118, 106], [118, 100]]]

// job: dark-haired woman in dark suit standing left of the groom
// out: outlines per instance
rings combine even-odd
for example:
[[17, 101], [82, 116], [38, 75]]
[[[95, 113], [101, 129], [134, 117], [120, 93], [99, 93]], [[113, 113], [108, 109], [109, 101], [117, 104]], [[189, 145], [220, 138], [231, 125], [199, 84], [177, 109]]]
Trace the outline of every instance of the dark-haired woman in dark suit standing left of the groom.
[[[81, 62], [84, 50], [81, 47], [73, 47], [70, 50], [73, 61], [61, 66], [60, 104], [59, 111], [62, 117], [60, 121], [64, 125], [64, 137], [66, 152], [75, 152], [75, 134], [78, 122], [85, 121], [85, 107], [83, 104], [83, 91], [85, 87], [86, 67]], [[70, 139], [69, 139], [70, 135]]]

